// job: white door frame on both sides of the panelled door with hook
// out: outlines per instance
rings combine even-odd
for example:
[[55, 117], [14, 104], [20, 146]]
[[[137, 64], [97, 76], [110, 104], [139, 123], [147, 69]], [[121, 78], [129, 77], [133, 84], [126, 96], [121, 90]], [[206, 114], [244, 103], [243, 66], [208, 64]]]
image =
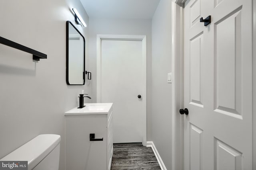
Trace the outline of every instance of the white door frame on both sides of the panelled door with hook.
[[[184, 3], [186, 0], [172, 0], [172, 170], [183, 170], [183, 64], [184, 64]], [[252, 0], [253, 36], [252, 45], [256, 47], [256, 2]], [[253, 169], [256, 169], [256, 48], [252, 48], [253, 64]]]

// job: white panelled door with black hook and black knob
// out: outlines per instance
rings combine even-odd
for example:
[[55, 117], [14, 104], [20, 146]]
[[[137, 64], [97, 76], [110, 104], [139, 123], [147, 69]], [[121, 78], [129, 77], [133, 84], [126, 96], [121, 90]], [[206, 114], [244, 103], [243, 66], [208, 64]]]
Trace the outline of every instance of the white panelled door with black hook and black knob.
[[186, 1], [184, 108], [184, 170], [252, 170], [252, 0]]

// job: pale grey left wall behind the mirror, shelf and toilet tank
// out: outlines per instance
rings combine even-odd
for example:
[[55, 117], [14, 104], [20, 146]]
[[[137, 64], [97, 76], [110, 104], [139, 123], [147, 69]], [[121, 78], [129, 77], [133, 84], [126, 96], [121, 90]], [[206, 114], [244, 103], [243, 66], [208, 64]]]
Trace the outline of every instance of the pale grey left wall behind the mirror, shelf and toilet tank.
[[[88, 24], [79, 0], [0, 1], [0, 36], [48, 57], [36, 63], [31, 54], [0, 44], [0, 158], [39, 134], [59, 134], [60, 170], [65, 169], [64, 112], [78, 105], [82, 89], [91, 94], [91, 85], [66, 84], [66, 21], [74, 23], [72, 8]], [[88, 49], [88, 28], [76, 26]]]

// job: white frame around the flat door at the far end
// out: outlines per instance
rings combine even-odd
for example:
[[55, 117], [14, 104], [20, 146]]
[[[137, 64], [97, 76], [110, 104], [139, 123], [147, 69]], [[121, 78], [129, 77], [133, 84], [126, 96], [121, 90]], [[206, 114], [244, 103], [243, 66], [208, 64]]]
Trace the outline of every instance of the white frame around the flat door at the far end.
[[[96, 37], [96, 101], [97, 103], [101, 103], [101, 95], [102, 95], [102, 82], [101, 82], [101, 68], [102, 68], [102, 57], [101, 57], [101, 40], [134, 40], [134, 41], [142, 41], [142, 72], [143, 72], [143, 139], [142, 145], [147, 145], [147, 37], [146, 35], [110, 35], [110, 34], [97, 34]], [[129, 70], [127, 70], [129, 71]]]

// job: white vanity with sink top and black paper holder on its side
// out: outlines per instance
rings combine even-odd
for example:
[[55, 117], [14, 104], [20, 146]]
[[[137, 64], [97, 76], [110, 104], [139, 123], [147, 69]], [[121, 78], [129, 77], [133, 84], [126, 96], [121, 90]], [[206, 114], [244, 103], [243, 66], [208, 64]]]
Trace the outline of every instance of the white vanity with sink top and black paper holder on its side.
[[[85, 106], [87, 108], [74, 108], [65, 113], [66, 170], [110, 170], [112, 103]], [[90, 134], [103, 140], [90, 141]]]

